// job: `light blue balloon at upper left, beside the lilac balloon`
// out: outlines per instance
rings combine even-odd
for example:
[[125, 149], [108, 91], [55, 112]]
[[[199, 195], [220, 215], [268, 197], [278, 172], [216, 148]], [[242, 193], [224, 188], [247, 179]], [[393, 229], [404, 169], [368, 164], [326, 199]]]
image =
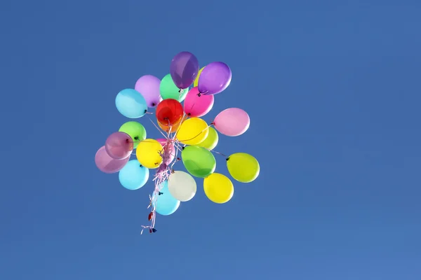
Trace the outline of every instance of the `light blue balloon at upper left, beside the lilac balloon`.
[[126, 88], [116, 96], [116, 107], [126, 118], [140, 118], [147, 112], [147, 104], [137, 90]]

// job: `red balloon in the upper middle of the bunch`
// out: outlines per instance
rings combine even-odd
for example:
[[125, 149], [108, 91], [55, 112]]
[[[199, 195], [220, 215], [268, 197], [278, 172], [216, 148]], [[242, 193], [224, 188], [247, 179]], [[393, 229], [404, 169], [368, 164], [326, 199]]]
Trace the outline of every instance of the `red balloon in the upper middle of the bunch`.
[[156, 120], [162, 125], [175, 125], [180, 122], [183, 114], [181, 103], [175, 99], [164, 99], [156, 106]]

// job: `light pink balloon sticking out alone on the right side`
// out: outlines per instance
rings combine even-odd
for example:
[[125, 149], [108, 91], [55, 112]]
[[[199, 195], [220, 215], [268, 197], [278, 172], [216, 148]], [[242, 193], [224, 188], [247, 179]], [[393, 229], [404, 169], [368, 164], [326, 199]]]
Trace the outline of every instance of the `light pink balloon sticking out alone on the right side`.
[[246, 111], [239, 108], [229, 108], [220, 112], [213, 120], [218, 132], [227, 136], [239, 136], [250, 127], [250, 117]]

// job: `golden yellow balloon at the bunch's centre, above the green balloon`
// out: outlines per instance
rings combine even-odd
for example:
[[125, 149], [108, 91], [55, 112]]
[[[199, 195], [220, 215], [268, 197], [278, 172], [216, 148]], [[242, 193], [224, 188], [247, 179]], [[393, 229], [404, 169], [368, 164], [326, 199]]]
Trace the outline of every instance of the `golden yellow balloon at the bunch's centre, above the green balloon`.
[[182, 144], [197, 145], [208, 137], [208, 124], [201, 118], [188, 118], [180, 125], [177, 139]]

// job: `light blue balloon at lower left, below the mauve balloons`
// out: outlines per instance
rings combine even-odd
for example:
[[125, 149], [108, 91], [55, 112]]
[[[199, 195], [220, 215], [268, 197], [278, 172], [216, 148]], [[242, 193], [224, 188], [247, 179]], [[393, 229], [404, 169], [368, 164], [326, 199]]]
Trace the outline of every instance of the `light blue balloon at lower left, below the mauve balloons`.
[[138, 190], [149, 179], [149, 169], [142, 167], [138, 160], [131, 160], [119, 172], [121, 186], [128, 190]]

